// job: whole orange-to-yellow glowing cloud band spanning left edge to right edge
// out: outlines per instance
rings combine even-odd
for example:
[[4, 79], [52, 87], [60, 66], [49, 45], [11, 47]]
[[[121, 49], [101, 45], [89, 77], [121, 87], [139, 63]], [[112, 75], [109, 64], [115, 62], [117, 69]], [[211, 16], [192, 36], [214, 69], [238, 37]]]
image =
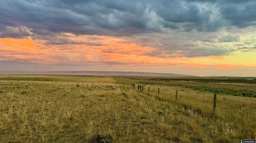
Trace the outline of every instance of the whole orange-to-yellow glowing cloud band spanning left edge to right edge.
[[[223, 56], [169, 58], [168, 54], [159, 53], [154, 47], [131, 42], [125, 37], [76, 36], [68, 33], [62, 36], [60, 39], [53, 38], [50, 42], [31, 38], [0, 38], [0, 61], [69, 65], [95, 63], [139, 66], [178, 65], [218, 70], [246, 68], [242, 65], [225, 63], [227, 59]], [[57, 44], [61, 41], [63, 44]]]

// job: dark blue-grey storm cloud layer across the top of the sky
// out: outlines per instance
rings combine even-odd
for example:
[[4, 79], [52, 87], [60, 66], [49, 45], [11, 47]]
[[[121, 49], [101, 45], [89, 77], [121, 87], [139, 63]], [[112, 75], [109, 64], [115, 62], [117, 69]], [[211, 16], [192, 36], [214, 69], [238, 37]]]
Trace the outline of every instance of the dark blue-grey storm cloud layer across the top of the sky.
[[217, 31], [225, 26], [255, 25], [255, 7], [256, 1], [231, 0], [4, 0], [0, 2], [0, 30], [3, 25], [24, 25], [34, 32], [117, 36], [160, 33], [162, 28]]

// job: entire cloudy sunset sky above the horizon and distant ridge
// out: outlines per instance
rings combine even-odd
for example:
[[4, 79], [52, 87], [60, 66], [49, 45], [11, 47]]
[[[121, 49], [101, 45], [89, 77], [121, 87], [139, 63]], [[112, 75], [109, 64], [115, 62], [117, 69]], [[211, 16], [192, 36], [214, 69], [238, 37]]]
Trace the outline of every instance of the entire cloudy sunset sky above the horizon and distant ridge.
[[0, 71], [256, 76], [255, 0], [1, 0]]

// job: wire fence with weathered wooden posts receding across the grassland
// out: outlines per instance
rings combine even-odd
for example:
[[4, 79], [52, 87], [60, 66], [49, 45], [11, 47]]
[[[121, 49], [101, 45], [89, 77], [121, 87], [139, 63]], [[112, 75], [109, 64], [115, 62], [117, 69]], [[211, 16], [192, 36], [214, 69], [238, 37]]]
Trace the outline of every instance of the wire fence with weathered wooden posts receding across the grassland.
[[[136, 85], [133, 84], [133, 87]], [[175, 102], [202, 115], [211, 115], [230, 121], [255, 122], [256, 99], [248, 97], [210, 94], [180, 87], [137, 85], [138, 92], [159, 100]], [[143, 89], [148, 89], [143, 90]]]

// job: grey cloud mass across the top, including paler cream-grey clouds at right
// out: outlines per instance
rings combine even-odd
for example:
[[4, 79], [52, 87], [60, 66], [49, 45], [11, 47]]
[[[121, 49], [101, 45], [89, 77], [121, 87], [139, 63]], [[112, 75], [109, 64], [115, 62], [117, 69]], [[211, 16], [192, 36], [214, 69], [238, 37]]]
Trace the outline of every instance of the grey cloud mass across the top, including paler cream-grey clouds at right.
[[3, 0], [0, 38], [30, 36], [46, 45], [102, 46], [61, 34], [126, 36], [158, 48], [146, 53], [152, 56], [228, 55], [233, 48], [215, 43], [238, 42], [240, 37], [218, 33], [255, 26], [255, 7], [255, 0]]

